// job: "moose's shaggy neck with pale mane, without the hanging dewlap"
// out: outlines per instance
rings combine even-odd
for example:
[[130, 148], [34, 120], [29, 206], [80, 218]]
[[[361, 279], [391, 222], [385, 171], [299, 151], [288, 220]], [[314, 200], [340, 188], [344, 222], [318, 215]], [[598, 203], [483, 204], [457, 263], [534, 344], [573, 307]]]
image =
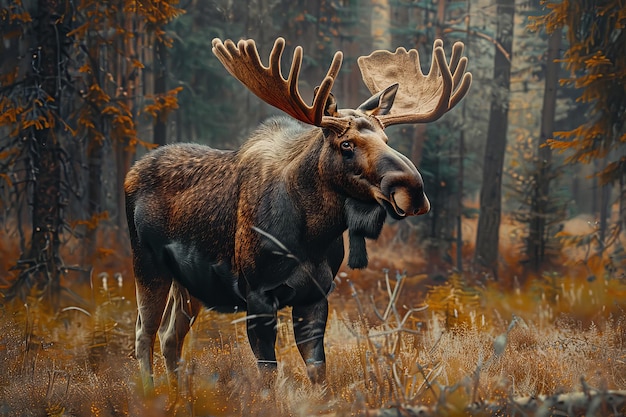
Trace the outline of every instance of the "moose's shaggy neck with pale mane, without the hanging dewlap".
[[238, 151], [240, 199], [251, 210], [240, 219], [288, 247], [321, 249], [339, 238], [345, 197], [320, 175], [324, 146], [320, 128], [286, 117], [263, 123]]

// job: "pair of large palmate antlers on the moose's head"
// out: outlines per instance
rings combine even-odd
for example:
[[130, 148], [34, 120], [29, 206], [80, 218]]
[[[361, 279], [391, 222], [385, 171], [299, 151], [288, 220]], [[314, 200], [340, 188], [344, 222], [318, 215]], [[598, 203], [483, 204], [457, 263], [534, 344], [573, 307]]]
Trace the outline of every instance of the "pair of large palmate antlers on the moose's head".
[[[328, 73], [316, 89], [313, 105], [307, 105], [298, 91], [298, 77], [302, 65], [302, 47], [294, 50], [289, 76], [281, 73], [280, 62], [285, 40], [276, 39], [270, 52], [269, 66], [261, 63], [253, 40], [233, 41], [213, 39], [213, 53], [228, 72], [241, 81], [250, 91], [268, 104], [284, 111], [301, 122], [342, 132], [348, 121], [324, 115], [327, 100], [339, 74], [343, 54], [336, 52]], [[383, 126], [403, 123], [425, 123], [437, 120], [452, 109], [467, 93], [472, 75], [465, 72], [467, 58], [463, 43], [452, 47], [448, 64], [443, 42], [437, 39], [433, 59], [427, 75], [422, 73], [419, 55], [415, 49], [398, 48], [395, 53], [375, 51], [358, 59], [363, 81], [377, 94], [392, 84], [399, 84], [391, 111], [376, 116]]]

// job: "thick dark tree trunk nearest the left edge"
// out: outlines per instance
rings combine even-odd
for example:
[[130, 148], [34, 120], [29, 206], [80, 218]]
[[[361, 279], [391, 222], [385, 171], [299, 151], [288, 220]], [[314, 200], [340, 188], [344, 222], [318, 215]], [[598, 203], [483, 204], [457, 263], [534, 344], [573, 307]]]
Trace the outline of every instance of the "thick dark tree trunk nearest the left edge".
[[[39, 0], [32, 15], [18, 7], [12, 10], [15, 21], [30, 23], [34, 42], [31, 65], [24, 71], [19, 87], [7, 89], [1, 106], [1, 125], [13, 125], [3, 150], [8, 148], [8, 152], [19, 154], [25, 168], [30, 170], [25, 178], [16, 171], [10, 172], [14, 179], [23, 178], [18, 192], [29, 193], [32, 205], [30, 241], [17, 261], [19, 279], [8, 295], [25, 296], [34, 286], [46, 289], [53, 305], [58, 302], [63, 268], [59, 246], [67, 191], [62, 186], [64, 155], [59, 142], [64, 130], [59, 120], [63, 111], [61, 91], [67, 81], [66, 66], [59, 61], [68, 50], [65, 38], [69, 26], [63, 18], [68, 17], [66, 6], [62, 1]], [[11, 63], [17, 64], [14, 59]], [[14, 71], [12, 74], [18, 73], [19, 67]], [[17, 162], [17, 159], [9, 158], [9, 161]], [[4, 178], [10, 178], [6, 172]]]

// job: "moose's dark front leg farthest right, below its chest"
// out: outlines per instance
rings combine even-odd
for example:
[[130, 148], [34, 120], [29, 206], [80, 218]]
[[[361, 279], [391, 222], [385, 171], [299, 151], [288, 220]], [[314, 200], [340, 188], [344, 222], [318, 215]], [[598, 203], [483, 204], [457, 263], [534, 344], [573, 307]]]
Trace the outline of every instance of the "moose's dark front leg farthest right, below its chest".
[[296, 344], [311, 381], [321, 384], [326, 381], [326, 355], [324, 354], [324, 332], [328, 317], [326, 298], [315, 304], [294, 306], [291, 312]]

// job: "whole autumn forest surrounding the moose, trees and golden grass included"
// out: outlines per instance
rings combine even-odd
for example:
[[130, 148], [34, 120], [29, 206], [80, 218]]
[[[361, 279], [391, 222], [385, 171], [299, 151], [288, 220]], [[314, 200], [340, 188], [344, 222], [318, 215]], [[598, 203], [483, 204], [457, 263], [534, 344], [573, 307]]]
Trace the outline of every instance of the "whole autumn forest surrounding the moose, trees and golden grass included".
[[[0, 0], [1, 416], [626, 415], [626, 1]], [[237, 149], [281, 112], [212, 40], [286, 40], [312, 101], [357, 58], [461, 41], [441, 119], [386, 130], [430, 212], [388, 219], [329, 295], [328, 381], [279, 313], [264, 385], [245, 314], [203, 310], [172, 398], [144, 395], [124, 178], [160, 146]], [[157, 343], [158, 345], [158, 343]]]

